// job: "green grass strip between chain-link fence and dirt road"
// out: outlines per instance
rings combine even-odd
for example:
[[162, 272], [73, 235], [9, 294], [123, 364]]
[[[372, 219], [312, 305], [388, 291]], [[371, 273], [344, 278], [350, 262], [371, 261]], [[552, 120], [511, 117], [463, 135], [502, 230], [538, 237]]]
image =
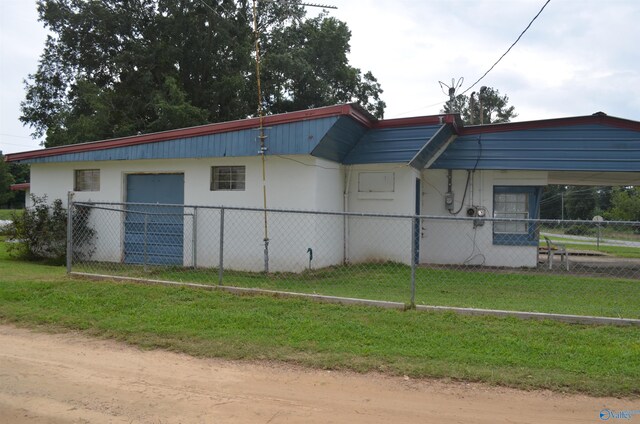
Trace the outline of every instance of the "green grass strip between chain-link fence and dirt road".
[[640, 396], [640, 329], [88, 282], [0, 243], [0, 322], [202, 357]]

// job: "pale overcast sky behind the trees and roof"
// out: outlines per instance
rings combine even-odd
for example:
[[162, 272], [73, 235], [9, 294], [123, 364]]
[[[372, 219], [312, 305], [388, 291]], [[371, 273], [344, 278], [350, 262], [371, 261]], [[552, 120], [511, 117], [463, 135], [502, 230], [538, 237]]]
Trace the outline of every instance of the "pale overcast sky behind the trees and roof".
[[[546, 0], [317, 0], [352, 32], [351, 64], [384, 89], [385, 118], [437, 114], [438, 81], [475, 82]], [[310, 10], [311, 11], [311, 10]], [[518, 44], [472, 91], [491, 86], [529, 121], [603, 111], [640, 121], [640, 1], [552, 0]], [[22, 80], [46, 32], [35, 1], [0, 0], [0, 150], [39, 148], [18, 121]]]

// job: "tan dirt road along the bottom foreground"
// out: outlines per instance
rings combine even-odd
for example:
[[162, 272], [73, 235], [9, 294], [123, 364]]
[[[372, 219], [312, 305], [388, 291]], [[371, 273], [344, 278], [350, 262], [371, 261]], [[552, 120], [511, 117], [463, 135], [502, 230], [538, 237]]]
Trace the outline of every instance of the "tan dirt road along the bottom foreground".
[[603, 408], [640, 404], [199, 359], [0, 326], [0, 423], [596, 423]]

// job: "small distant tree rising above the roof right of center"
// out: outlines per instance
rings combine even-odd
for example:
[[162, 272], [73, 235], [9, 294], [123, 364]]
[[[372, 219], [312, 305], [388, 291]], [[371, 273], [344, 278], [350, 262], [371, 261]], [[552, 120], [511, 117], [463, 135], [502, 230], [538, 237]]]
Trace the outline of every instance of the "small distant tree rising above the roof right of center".
[[492, 87], [481, 87], [479, 92], [469, 96], [459, 94], [453, 102], [449, 100], [442, 108], [443, 113], [459, 113], [465, 124], [493, 124], [510, 122], [518, 116], [515, 106], [507, 106], [509, 97], [500, 95]]

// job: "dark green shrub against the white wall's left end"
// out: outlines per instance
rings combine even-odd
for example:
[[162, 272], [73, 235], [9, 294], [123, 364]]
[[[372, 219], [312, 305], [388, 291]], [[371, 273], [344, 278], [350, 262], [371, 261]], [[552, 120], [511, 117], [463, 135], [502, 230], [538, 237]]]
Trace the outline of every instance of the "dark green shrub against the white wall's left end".
[[[47, 196], [33, 194], [31, 200], [29, 209], [13, 213], [8, 235], [14, 243], [9, 245], [9, 253], [25, 260], [48, 259], [64, 263], [67, 257], [67, 210], [62, 207], [62, 200], [56, 199], [49, 204]], [[74, 208], [73, 231], [89, 235], [83, 238], [82, 246], [74, 246], [74, 253], [79, 251], [90, 256], [95, 231], [87, 226], [89, 213], [88, 208]]]

